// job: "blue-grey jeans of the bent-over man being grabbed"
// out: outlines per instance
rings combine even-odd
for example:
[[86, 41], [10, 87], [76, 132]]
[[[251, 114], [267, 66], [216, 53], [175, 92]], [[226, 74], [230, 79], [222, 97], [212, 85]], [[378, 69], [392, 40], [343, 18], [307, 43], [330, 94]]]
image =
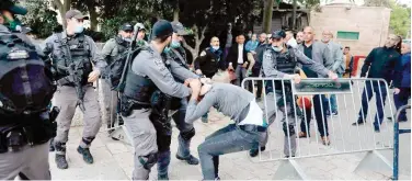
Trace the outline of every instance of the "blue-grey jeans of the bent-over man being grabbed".
[[236, 124], [230, 124], [215, 132], [197, 147], [203, 179], [214, 180], [218, 177], [220, 155], [249, 150], [258, 145], [258, 132], [244, 132]]

